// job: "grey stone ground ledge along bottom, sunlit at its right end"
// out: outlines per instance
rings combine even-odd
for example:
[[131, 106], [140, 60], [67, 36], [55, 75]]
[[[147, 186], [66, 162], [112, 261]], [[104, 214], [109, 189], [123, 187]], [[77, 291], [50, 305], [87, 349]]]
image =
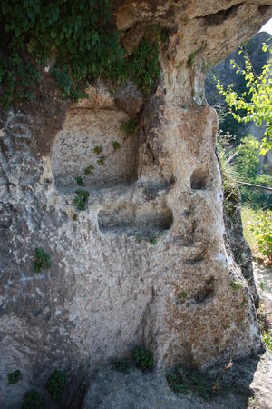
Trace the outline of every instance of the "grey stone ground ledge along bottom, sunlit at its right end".
[[[216, 374], [219, 374], [219, 368]], [[142, 374], [135, 369], [129, 374], [121, 374], [103, 368], [90, 380], [83, 408], [270, 409], [271, 354], [234, 362], [232, 368], [220, 377], [219, 385], [221, 393], [207, 402], [192, 394], [174, 394], [162, 374]]]

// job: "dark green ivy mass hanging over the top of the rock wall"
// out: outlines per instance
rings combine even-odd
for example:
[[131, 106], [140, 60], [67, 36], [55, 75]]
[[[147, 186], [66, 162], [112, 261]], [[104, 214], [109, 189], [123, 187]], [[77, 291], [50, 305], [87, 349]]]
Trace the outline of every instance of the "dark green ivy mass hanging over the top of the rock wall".
[[143, 38], [124, 57], [109, 0], [2, 0], [0, 20], [0, 105], [32, 99], [51, 55], [50, 72], [65, 99], [87, 97], [86, 86], [98, 77], [115, 85], [131, 77], [149, 95], [160, 77], [160, 35]]

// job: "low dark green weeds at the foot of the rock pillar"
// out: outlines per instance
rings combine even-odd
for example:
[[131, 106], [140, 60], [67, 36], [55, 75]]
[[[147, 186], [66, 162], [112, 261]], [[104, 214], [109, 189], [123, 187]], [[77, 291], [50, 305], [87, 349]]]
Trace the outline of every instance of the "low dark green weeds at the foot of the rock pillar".
[[198, 394], [205, 400], [212, 397], [212, 382], [198, 370], [177, 368], [166, 376], [170, 389], [175, 394]]

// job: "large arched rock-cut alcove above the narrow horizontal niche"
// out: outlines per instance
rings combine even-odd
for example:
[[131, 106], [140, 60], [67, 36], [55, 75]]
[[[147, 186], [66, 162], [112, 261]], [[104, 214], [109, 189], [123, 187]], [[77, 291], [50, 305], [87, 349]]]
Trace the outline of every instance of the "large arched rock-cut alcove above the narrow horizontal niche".
[[98, 107], [69, 110], [52, 147], [51, 167], [58, 189], [74, 189], [78, 176], [84, 177], [88, 189], [130, 184], [137, 178], [138, 135], [121, 131], [130, 118], [109, 99]]

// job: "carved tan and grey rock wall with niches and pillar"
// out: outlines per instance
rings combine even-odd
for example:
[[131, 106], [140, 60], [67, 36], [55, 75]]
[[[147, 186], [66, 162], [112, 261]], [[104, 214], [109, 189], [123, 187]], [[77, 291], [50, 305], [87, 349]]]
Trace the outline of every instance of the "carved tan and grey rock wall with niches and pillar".
[[[218, 119], [204, 79], [267, 21], [270, 5], [116, 1], [128, 53], [145, 27], [169, 30], [155, 93], [97, 82], [89, 100], [68, 106], [45, 76], [41, 98], [2, 115], [1, 407], [19, 406], [55, 367], [84, 374], [138, 344], [158, 368], [260, 349], [253, 296], [225, 246]], [[121, 124], [134, 117], [125, 138]], [[73, 220], [75, 177], [90, 165], [88, 207]], [[40, 274], [36, 247], [53, 262]], [[16, 368], [23, 381], [12, 390], [6, 373]]]

